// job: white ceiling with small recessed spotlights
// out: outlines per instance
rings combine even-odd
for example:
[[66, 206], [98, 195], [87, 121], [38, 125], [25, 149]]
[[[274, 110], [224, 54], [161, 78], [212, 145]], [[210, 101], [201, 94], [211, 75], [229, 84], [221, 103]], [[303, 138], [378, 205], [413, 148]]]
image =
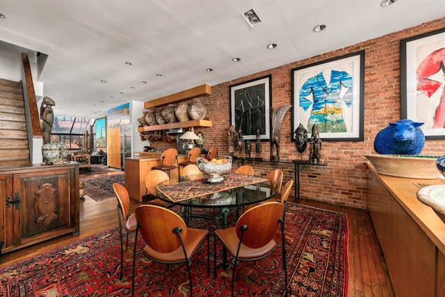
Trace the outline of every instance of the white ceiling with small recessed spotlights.
[[[444, 0], [380, 1], [1, 0], [0, 40], [48, 55], [34, 79], [55, 115], [102, 118], [131, 100], [214, 86], [445, 17]], [[242, 16], [251, 8], [255, 26]], [[314, 33], [317, 24], [325, 31]]]

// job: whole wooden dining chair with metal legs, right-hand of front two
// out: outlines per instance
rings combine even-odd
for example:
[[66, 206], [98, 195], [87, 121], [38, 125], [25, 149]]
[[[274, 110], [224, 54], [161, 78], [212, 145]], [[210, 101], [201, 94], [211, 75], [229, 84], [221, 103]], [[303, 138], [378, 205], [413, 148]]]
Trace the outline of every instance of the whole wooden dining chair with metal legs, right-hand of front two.
[[[286, 204], [286, 203], [285, 203]], [[213, 259], [216, 266], [216, 241], [223, 243], [229, 253], [234, 257], [232, 268], [232, 296], [234, 296], [234, 281], [236, 265], [242, 261], [257, 261], [270, 255], [275, 248], [282, 248], [282, 264], [284, 270], [284, 287], [287, 295], [286, 248], [284, 241], [284, 210], [278, 202], [268, 202], [252, 207], [238, 218], [235, 227], [215, 230], [215, 243], [213, 244]], [[278, 228], [281, 228], [282, 244], [278, 245], [274, 237]]]

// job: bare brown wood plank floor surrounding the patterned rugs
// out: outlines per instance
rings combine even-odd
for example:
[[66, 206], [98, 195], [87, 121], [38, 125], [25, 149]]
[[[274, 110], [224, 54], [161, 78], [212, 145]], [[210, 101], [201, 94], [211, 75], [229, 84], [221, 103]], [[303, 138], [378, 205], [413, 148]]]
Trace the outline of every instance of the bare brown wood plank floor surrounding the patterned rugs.
[[[93, 176], [89, 175], [88, 177]], [[378, 239], [375, 236], [368, 211], [316, 202], [314, 200], [301, 199], [299, 203], [348, 215], [349, 297], [394, 296], [385, 259], [383, 258]], [[114, 199], [95, 202], [88, 197], [82, 198], [80, 205], [80, 235], [72, 236], [72, 234], [67, 234], [29, 248], [1, 255], [0, 267], [8, 266], [22, 259], [39, 255], [42, 252], [53, 250], [72, 241], [116, 227], [118, 225], [116, 205], [117, 203]], [[133, 212], [139, 205], [140, 203], [131, 200], [130, 212]]]

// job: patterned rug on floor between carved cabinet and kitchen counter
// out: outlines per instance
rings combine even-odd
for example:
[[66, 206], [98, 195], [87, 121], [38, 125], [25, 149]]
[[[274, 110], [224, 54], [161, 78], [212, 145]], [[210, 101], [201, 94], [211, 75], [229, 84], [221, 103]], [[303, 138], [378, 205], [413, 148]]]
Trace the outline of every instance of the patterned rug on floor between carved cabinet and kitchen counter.
[[118, 182], [125, 186], [125, 174], [107, 175], [106, 177], [92, 177], [82, 179], [85, 182], [85, 195], [95, 201], [115, 198], [113, 184]]

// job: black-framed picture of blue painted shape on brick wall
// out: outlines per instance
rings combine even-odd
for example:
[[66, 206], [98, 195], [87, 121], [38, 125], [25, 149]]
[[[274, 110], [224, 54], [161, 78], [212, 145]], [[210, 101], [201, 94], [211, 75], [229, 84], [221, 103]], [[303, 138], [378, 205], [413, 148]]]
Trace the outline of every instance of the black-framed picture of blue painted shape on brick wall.
[[364, 51], [293, 68], [291, 94], [292, 141], [300, 124], [309, 138], [316, 124], [323, 141], [363, 141]]

